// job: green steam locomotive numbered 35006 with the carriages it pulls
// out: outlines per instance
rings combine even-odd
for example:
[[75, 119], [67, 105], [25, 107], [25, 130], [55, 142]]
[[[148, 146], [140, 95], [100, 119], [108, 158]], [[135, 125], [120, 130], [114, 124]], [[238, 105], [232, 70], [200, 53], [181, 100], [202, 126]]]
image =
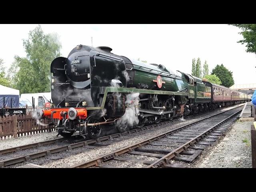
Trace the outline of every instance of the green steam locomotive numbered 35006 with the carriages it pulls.
[[54, 59], [50, 68], [53, 106], [37, 109], [37, 118], [51, 118], [50, 124], [61, 136], [79, 131], [96, 139], [103, 128], [124, 132], [250, 100], [246, 94], [190, 74], [111, 51], [78, 45], [67, 58]]

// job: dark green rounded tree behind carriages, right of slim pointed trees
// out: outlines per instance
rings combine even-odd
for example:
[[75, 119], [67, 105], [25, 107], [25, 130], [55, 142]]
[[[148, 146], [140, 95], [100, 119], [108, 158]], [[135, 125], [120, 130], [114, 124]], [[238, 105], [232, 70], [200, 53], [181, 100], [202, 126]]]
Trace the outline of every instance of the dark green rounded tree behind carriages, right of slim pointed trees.
[[231, 87], [234, 85], [233, 72], [229, 71], [223, 64], [217, 65], [214, 69], [212, 69], [212, 75], [216, 74], [220, 81], [222, 82], [220, 85], [225, 87]]

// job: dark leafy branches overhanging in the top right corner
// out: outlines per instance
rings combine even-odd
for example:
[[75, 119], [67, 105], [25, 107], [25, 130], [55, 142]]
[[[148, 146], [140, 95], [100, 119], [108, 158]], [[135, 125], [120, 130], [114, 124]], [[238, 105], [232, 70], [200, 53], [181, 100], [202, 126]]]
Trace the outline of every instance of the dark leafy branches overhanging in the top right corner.
[[238, 41], [238, 43], [242, 43], [242, 44], [246, 43], [246, 47], [247, 47], [246, 52], [256, 54], [256, 24], [232, 24], [232, 25], [242, 29], [242, 32], [239, 32], [239, 34], [242, 34], [244, 39]]

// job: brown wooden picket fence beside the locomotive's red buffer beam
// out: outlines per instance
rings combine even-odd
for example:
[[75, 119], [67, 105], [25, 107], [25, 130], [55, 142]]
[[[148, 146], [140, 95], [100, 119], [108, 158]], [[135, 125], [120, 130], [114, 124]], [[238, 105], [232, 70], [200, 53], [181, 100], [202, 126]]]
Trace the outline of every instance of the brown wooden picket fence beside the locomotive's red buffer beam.
[[[48, 126], [49, 119], [45, 118], [39, 122], [33, 118], [34, 110], [36, 109], [26, 106], [26, 115], [0, 116], [0, 140], [55, 130], [54, 126]], [[54, 121], [57, 122], [57, 119]]]

